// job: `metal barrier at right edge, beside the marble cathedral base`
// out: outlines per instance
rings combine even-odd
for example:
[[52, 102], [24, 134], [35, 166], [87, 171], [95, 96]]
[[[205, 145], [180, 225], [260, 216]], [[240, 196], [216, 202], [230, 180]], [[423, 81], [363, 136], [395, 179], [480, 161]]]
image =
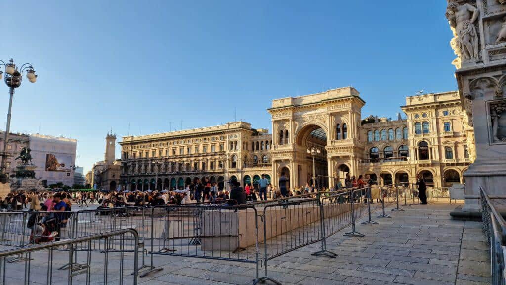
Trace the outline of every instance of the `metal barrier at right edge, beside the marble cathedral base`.
[[[480, 187], [480, 196], [483, 231], [490, 245], [492, 285], [502, 285], [506, 283], [506, 272], [504, 272], [504, 258], [506, 258], [506, 222], [494, 208], [491, 201], [493, 197], [489, 196], [482, 187]], [[506, 196], [498, 198], [506, 199]]]

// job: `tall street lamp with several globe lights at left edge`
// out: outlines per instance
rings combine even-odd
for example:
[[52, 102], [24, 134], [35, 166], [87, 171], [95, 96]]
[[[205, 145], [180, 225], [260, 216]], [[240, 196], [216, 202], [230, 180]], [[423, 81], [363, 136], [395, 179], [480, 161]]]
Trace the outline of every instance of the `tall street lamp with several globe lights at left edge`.
[[[4, 142], [4, 151], [0, 154], [2, 156], [2, 164], [0, 165], [0, 181], [7, 182], [6, 175], [6, 165], [7, 165], [7, 148], [9, 145], [9, 132], [11, 131], [11, 111], [12, 111], [12, 98], [14, 96], [14, 89], [21, 86], [21, 82], [23, 79], [23, 72], [26, 73], [26, 77], [30, 83], [35, 83], [37, 81], [37, 74], [35, 74], [35, 70], [33, 66], [29, 63], [25, 63], [21, 65], [18, 70], [18, 67], [14, 63], [14, 60], [11, 58], [9, 63], [5, 63], [5, 61], [0, 59], [0, 69], [2, 65], [5, 67], [5, 84], [9, 87], [9, 112], [7, 113], [7, 128], [5, 131], [5, 142]], [[4, 72], [0, 70], [0, 79], [2, 79]]]

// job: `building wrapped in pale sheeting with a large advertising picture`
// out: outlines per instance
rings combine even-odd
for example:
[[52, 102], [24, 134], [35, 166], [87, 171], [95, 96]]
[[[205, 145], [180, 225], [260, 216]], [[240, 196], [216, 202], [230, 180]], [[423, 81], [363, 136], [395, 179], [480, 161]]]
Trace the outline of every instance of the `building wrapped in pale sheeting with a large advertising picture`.
[[35, 178], [47, 185], [62, 182], [72, 186], [77, 140], [47, 135], [30, 135], [32, 164], [37, 167]]

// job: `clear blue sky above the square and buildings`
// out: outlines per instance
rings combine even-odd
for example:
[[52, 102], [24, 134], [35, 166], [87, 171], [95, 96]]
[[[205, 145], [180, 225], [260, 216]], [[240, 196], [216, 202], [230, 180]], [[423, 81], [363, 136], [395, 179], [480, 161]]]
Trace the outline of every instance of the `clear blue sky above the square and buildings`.
[[[78, 140], [77, 165], [105, 136], [234, 120], [271, 129], [271, 100], [353, 86], [362, 116], [456, 90], [446, 2], [1, 1], [0, 58], [30, 62], [13, 132]], [[4, 95], [1, 95], [4, 94]], [[8, 89], [0, 87], [0, 129]], [[116, 147], [119, 157], [119, 145]]]

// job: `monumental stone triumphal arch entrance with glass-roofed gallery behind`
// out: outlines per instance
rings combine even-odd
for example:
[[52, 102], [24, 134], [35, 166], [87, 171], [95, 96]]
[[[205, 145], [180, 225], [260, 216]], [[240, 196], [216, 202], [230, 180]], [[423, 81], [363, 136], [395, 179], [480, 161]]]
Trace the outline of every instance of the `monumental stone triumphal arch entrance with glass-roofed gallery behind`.
[[[311, 184], [313, 156], [319, 185], [331, 186], [345, 173], [358, 174], [364, 153], [360, 112], [365, 104], [359, 95], [353, 87], [345, 87], [272, 101], [268, 111], [272, 115], [274, 181], [284, 173], [290, 187]], [[310, 153], [311, 149], [318, 151]]]

